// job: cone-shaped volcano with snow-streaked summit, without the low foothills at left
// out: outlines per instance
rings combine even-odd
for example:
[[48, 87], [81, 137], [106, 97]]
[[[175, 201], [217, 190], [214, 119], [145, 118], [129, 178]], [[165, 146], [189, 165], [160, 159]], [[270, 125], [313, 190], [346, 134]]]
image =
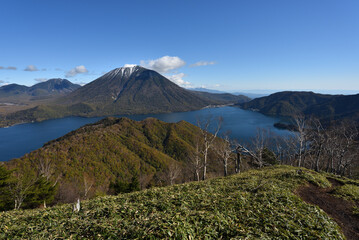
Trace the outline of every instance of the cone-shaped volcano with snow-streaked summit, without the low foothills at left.
[[[239, 98], [233, 97], [232, 102], [238, 102]], [[113, 115], [189, 111], [230, 101], [202, 97], [153, 70], [132, 66], [116, 68], [59, 102], [86, 104], [101, 115]]]

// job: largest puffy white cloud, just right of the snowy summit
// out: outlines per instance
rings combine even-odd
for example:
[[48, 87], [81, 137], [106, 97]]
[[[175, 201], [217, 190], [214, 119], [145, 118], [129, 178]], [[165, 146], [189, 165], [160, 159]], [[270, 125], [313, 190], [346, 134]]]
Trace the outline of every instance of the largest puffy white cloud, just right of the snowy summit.
[[141, 60], [140, 64], [160, 73], [166, 73], [186, 65], [186, 62], [179, 57], [163, 56], [155, 60]]

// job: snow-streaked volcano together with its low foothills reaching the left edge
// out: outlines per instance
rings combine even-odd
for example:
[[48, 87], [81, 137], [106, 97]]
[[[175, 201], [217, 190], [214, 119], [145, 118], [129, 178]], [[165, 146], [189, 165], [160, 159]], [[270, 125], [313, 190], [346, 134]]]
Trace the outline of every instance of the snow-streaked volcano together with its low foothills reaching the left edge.
[[56, 98], [51, 104], [8, 114], [1, 123], [6, 126], [65, 116], [181, 112], [249, 100], [245, 96], [190, 91], [153, 70], [122, 67]]

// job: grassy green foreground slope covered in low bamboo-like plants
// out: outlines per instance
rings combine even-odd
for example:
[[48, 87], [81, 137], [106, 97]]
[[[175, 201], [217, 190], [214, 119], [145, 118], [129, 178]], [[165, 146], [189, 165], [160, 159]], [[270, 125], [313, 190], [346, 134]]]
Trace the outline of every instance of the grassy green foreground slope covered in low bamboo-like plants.
[[[356, 188], [356, 195], [346, 198], [357, 200], [359, 183], [340, 181], [345, 185], [333, 194], [347, 203], [342, 199], [345, 189]], [[333, 219], [295, 195], [304, 185], [322, 188], [331, 183], [326, 175], [289, 166], [251, 170], [99, 197], [83, 201], [79, 212], [61, 205], [0, 213], [0, 238], [344, 239]], [[347, 239], [356, 239], [355, 232], [345, 233]]]

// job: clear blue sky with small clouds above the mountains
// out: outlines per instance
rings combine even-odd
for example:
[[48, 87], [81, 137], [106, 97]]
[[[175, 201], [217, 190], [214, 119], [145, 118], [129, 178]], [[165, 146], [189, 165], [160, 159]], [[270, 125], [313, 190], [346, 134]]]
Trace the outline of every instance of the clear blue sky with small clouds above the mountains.
[[0, 85], [126, 64], [180, 86], [359, 92], [358, 0], [0, 0]]

